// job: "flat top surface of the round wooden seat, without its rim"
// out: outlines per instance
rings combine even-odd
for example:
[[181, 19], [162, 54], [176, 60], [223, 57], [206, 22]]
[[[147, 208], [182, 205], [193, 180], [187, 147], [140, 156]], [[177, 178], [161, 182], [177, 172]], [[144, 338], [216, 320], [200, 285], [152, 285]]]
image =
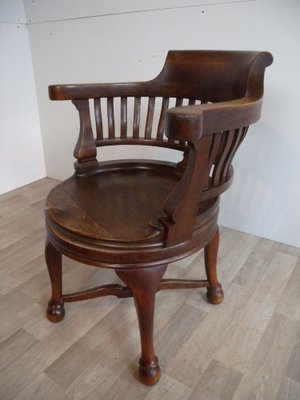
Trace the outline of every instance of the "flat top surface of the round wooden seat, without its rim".
[[47, 216], [69, 232], [99, 241], [162, 244], [159, 218], [178, 180], [175, 168], [164, 164], [105, 165], [54, 188], [47, 199]]

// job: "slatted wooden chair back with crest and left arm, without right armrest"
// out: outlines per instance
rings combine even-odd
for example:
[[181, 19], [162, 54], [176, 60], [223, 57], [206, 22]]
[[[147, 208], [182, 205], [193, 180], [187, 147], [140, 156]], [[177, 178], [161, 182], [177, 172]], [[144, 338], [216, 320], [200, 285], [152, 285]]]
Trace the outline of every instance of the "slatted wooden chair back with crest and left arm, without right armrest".
[[[169, 110], [219, 102], [230, 105], [231, 101], [244, 98], [254, 104], [254, 100], [262, 97], [264, 70], [270, 62], [269, 53], [262, 52], [169, 51], [161, 73], [153, 80], [53, 85], [49, 87], [49, 95], [53, 100], [72, 100], [79, 111], [80, 133], [74, 156], [78, 160], [76, 171], [81, 173], [97, 165], [96, 148], [100, 146], [151, 145], [186, 154], [187, 140], [166, 135]], [[249, 123], [258, 119], [260, 106], [254, 104], [253, 110], [253, 116], [247, 110]], [[231, 160], [247, 126], [237, 121], [236, 125], [231, 124], [232, 129], [204, 132], [212, 135], [213, 161], [208, 186], [230, 179]]]

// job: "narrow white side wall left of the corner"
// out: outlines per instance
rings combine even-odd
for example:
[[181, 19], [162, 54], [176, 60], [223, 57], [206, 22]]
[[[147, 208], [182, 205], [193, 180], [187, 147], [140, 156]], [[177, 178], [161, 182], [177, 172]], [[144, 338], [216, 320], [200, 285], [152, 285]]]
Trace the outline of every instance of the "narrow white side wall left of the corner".
[[25, 12], [0, 1], [0, 194], [46, 174]]

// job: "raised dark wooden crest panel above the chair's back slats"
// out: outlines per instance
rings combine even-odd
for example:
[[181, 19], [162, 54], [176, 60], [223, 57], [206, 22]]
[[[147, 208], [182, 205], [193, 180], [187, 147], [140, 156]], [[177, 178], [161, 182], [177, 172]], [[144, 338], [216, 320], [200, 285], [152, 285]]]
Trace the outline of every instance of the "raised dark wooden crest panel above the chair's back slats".
[[262, 55], [269, 58], [268, 53], [254, 51], [169, 51], [153, 83], [168, 88], [169, 96], [202, 103], [239, 99], [246, 95], [251, 67]]

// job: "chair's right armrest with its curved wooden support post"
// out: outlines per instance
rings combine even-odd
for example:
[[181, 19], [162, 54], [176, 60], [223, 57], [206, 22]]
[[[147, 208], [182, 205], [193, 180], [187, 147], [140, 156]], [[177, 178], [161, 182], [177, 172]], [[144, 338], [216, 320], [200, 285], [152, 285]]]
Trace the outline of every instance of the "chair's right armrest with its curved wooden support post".
[[261, 99], [247, 97], [168, 111], [166, 135], [187, 141], [189, 156], [182, 179], [164, 205], [167, 246], [189, 240], [193, 233], [201, 193], [216, 156], [212, 154], [212, 134], [244, 128], [256, 122], [260, 112]]

